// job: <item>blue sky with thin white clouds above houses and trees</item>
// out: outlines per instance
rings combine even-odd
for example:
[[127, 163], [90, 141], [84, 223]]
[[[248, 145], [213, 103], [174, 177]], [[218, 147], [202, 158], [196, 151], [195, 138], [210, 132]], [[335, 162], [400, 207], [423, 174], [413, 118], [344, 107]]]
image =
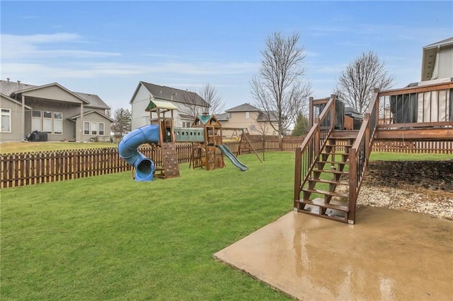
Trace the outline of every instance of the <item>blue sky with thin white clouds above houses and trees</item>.
[[453, 36], [453, 1], [0, 1], [1, 80], [59, 83], [130, 110], [139, 81], [198, 92], [224, 110], [254, 104], [265, 40], [299, 34], [304, 81], [333, 93], [373, 51], [396, 78], [420, 81], [423, 47]]

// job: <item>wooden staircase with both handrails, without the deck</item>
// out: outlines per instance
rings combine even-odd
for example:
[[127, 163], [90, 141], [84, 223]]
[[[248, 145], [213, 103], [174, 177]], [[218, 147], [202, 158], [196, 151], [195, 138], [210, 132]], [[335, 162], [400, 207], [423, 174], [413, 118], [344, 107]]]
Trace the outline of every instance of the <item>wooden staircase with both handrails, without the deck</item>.
[[[313, 216], [355, 223], [355, 206], [377, 128], [374, 102], [365, 114], [360, 130], [338, 129], [336, 95], [310, 99], [313, 124], [300, 148], [294, 168], [294, 211]], [[319, 117], [313, 108], [320, 105]]]

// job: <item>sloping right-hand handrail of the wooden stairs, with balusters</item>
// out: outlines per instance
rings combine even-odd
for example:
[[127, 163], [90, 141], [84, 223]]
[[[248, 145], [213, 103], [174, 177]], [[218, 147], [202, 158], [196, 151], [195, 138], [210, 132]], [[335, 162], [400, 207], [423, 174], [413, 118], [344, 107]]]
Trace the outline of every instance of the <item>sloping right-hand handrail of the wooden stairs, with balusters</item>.
[[357, 196], [362, 185], [362, 179], [369, 163], [374, 134], [379, 123], [379, 89], [375, 88], [372, 100], [364, 115], [362, 126], [349, 151], [349, 213], [348, 223], [355, 223], [355, 207]]

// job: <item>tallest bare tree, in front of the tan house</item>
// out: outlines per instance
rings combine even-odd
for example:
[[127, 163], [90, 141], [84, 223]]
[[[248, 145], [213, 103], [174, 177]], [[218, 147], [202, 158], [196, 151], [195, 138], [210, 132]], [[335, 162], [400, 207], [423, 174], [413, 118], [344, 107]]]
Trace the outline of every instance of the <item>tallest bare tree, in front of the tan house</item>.
[[256, 105], [262, 110], [270, 126], [282, 134], [297, 116], [308, 110], [311, 83], [304, 81], [306, 69], [303, 47], [298, 47], [299, 35], [282, 37], [270, 35], [261, 51], [263, 59], [258, 76], [251, 81], [251, 93]]

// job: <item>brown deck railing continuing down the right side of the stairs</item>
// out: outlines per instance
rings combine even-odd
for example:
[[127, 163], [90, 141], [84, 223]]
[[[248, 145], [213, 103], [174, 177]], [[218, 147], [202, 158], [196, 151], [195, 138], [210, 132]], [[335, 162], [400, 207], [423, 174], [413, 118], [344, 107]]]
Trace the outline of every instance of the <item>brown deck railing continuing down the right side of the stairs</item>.
[[[365, 118], [350, 149], [348, 218], [355, 219], [355, 202], [360, 191], [377, 130], [451, 129], [453, 127], [453, 79], [442, 83], [402, 89], [374, 90]], [[379, 132], [380, 134], [380, 132]], [[420, 136], [415, 136], [420, 138]], [[452, 140], [452, 137], [444, 137]]]

